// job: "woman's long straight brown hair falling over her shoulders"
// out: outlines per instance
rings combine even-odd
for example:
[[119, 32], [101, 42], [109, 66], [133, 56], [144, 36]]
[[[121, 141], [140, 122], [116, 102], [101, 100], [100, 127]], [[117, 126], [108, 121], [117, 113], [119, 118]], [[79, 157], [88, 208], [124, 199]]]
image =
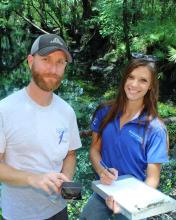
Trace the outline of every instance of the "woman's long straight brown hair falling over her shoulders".
[[[149, 62], [147, 60], [143, 59], [134, 59], [131, 60], [131, 62], [127, 65], [123, 78], [121, 80], [121, 84], [119, 87], [119, 91], [117, 94], [117, 97], [115, 100], [106, 102], [101, 104], [97, 110], [101, 109], [102, 107], [109, 106], [110, 110], [108, 111], [107, 115], [103, 119], [103, 121], [100, 124], [99, 128], [99, 135], [102, 135], [103, 129], [106, 127], [106, 125], [115, 119], [115, 117], [120, 113], [124, 112], [126, 110], [126, 104], [127, 104], [127, 97], [124, 90], [124, 86], [126, 83], [126, 80], [129, 76], [129, 74], [138, 67], [147, 67], [148, 70], [151, 72], [151, 88], [147, 91], [147, 93], [144, 96], [144, 111], [147, 114], [147, 120], [148, 122], [154, 118], [158, 117], [157, 112], [157, 101], [158, 101], [158, 93], [159, 93], [159, 83], [157, 79], [156, 74], [156, 68], [154, 62]], [[97, 111], [96, 110], [96, 111]]]

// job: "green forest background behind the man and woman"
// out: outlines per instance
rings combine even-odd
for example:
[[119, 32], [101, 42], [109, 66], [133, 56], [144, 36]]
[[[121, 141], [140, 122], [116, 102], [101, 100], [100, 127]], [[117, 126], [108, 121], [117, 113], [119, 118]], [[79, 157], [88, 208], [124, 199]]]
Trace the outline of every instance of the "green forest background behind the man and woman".
[[[75, 109], [83, 143], [75, 176], [83, 184], [83, 200], [69, 204], [70, 220], [78, 218], [95, 178], [88, 157], [90, 137], [85, 131], [96, 106], [114, 98], [133, 52], [157, 58], [158, 109], [170, 136], [170, 162], [163, 166], [160, 189], [176, 197], [175, 27], [175, 0], [1, 0], [0, 99], [29, 82], [26, 57], [39, 34], [61, 35], [73, 56], [56, 91]], [[169, 213], [155, 219], [176, 219], [174, 216]]]

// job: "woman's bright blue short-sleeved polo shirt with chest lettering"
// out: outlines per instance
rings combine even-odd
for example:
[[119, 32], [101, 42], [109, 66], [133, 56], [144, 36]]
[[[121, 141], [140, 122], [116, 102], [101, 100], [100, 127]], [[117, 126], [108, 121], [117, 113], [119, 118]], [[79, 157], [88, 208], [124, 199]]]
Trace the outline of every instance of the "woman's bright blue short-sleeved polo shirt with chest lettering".
[[[109, 107], [104, 107], [96, 112], [91, 124], [92, 131], [99, 132], [99, 126], [108, 111]], [[148, 163], [168, 162], [166, 128], [158, 118], [146, 126], [145, 113], [122, 128], [118, 115], [104, 128], [101, 141], [103, 162], [108, 167], [116, 168], [119, 176], [130, 174], [144, 181]]]

